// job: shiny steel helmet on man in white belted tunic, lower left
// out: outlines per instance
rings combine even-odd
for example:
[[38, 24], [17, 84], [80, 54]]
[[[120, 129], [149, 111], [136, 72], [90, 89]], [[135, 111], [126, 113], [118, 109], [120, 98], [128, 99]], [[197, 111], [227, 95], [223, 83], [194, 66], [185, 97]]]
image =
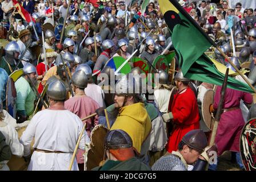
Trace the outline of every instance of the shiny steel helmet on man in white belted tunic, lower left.
[[61, 81], [57, 80], [49, 84], [46, 94], [53, 100], [63, 101], [66, 99], [67, 90], [65, 85]]

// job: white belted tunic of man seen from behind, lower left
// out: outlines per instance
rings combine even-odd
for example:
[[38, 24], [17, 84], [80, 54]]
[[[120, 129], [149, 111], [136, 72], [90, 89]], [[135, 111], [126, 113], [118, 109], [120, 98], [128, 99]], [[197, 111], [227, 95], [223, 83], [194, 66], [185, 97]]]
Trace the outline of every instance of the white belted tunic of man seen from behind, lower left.
[[[30, 143], [33, 138], [33, 148], [65, 153], [34, 151], [28, 170], [68, 170], [82, 128], [81, 119], [68, 110], [46, 109], [35, 114], [21, 137], [21, 143], [25, 146], [24, 155], [30, 154]], [[85, 143], [89, 142], [87, 133], [83, 133], [79, 148], [85, 150]], [[72, 170], [78, 171], [77, 160], [74, 160]]]

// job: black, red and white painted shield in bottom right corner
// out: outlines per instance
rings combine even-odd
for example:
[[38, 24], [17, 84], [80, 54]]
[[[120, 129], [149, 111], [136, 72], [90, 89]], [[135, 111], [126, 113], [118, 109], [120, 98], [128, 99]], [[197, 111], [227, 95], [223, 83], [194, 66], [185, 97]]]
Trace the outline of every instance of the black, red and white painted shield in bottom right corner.
[[250, 119], [243, 127], [240, 152], [246, 171], [256, 171], [256, 118]]

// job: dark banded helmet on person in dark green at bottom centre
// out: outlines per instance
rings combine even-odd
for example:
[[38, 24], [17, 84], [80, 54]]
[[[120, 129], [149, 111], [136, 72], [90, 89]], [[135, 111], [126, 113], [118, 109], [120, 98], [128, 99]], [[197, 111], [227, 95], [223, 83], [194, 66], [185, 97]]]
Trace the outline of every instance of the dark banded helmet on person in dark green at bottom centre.
[[123, 130], [111, 130], [105, 137], [104, 147], [106, 150], [132, 148], [133, 140], [129, 134]]

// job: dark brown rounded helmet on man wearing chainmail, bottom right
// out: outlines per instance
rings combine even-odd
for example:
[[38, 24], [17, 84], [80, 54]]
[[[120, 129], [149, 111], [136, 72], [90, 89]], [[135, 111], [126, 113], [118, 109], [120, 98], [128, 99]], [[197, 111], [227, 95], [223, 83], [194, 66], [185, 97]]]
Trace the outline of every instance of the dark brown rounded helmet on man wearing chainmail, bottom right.
[[182, 142], [186, 143], [190, 148], [194, 148], [199, 152], [203, 152], [207, 146], [207, 138], [202, 130], [191, 130], [183, 138]]

